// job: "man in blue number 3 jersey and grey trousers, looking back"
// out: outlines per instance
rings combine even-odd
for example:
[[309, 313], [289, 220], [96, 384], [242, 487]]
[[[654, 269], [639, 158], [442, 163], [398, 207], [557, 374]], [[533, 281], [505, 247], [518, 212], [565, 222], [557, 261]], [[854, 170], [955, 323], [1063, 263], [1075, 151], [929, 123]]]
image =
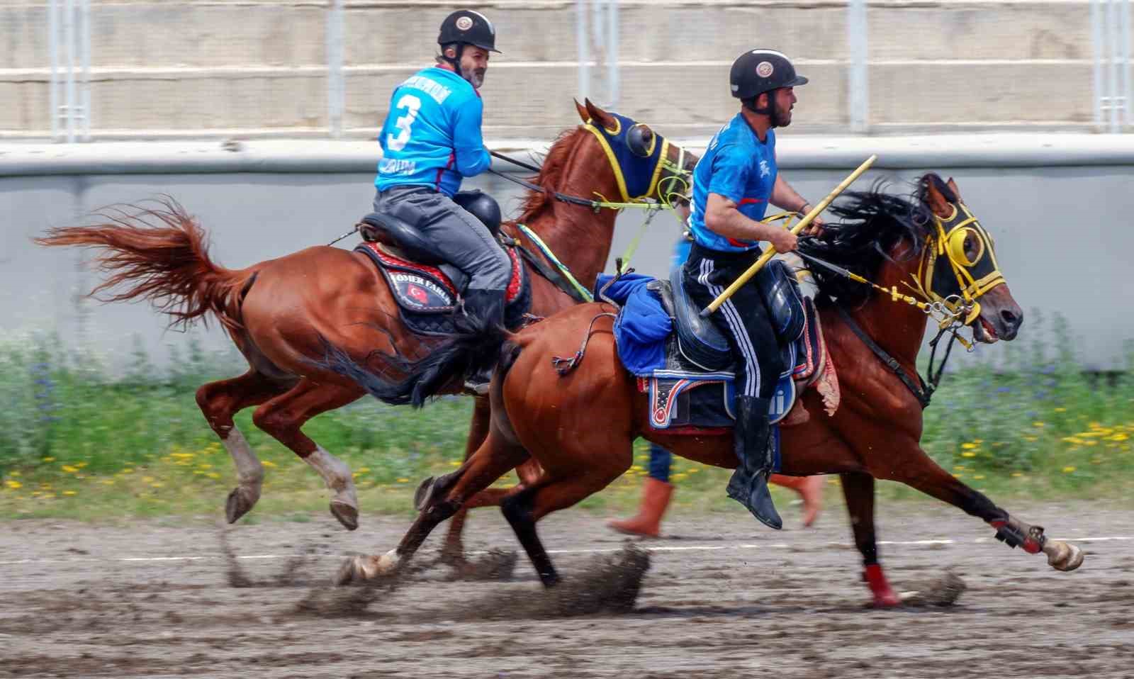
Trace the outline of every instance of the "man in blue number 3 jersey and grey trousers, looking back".
[[[374, 186], [374, 212], [415, 227], [450, 264], [468, 274], [464, 322], [503, 323], [511, 261], [479, 219], [454, 197], [465, 177], [488, 169], [481, 137], [489, 53], [496, 29], [483, 15], [458, 10], [441, 23], [437, 65], [417, 71], [393, 91], [379, 143], [382, 160]], [[459, 197], [458, 197], [459, 200]], [[484, 393], [491, 366], [466, 384]]]

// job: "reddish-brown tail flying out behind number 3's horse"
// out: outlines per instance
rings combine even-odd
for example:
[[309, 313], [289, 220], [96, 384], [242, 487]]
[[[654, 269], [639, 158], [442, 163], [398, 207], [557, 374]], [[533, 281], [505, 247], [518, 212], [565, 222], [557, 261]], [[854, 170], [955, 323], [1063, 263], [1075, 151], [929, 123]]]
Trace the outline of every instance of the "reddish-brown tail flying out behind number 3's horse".
[[[171, 198], [145, 209], [122, 205], [99, 213], [104, 223], [59, 227], [35, 243], [101, 248], [95, 257], [109, 278], [91, 290], [100, 302], [145, 299], [171, 316], [170, 328], [188, 328], [197, 319], [208, 324], [212, 314], [229, 330], [242, 326], [232, 291], [254, 274], [253, 269], [229, 270], [209, 258], [204, 229]], [[122, 286], [119, 291], [100, 292]]]

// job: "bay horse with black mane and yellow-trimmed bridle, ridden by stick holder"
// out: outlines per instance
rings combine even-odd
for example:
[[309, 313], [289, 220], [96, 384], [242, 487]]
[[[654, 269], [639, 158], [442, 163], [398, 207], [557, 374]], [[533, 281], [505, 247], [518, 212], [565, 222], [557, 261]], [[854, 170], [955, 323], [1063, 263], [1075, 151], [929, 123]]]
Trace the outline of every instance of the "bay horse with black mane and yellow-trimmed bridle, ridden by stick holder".
[[[960, 201], [956, 184], [931, 173], [917, 187], [911, 201], [882, 193], [880, 187], [847, 194], [832, 207], [838, 223], [826, 226], [819, 237], [801, 239], [805, 254], [849, 269], [886, 292], [814, 270], [821, 324], [843, 385], [841, 404], [832, 416], [812, 416], [805, 424], [781, 430], [781, 473], [840, 475], [864, 579], [878, 606], [898, 605], [900, 600], [879, 565], [875, 478], [905, 483], [988, 521], [999, 540], [1029, 553], [1046, 553], [1058, 570], [1073, 570], [1083, 560], [1078, 548], [1048, 540], [1043, 528], [1009, 516], [938, 466], [919, 445], [924, 384], [919, 389], [911, 381], [907, 388], [902, 376], [911, 380], [909, 375], [917, 374], [915, 359], [928, 316], [915, 306], [895, 302], [891, 292], [913, 281], [911, 287], [920, 288], [926, 300], [949, 303], [954, 321], [971, 326], [974, 339], [982, 342], [1014, 339], [1023, 313], [999, 272], [991, 237]], [[486, 345], [500, 351], [490, 389], [488, 436], [460, 468], [423, 482], [420, 515], [396, 549], [382, 557], [348, 560], [339, 582], [376, 577], [404, 565], [438, 523], [528, 459], [539, 461], [542, 474], [534, 483], [513, 490], [501, 510], [545, 586], [556, 584], [559, 576], [535, 523], [625, 473], [633, 464], [635, 438], [644, 436], [692, 460], [735, 468], [730, 431], [671, 435], [651, 427], [646, 394], [618, 359], [609, 315], [613, 311], [608, 304], [581, 305], [515, 334], [497, 329], [455, 338], [437, 349], [426, 359], [430, 368], [459, 365], [477, 343], [477, 350]], [[582, 359], [561, 375], [552, 357], [576, 355], [584, 338], [589, 343]], [[885, 365], [868, 342], [892, 357], [898, 370]], [[338, 354], [329, 357], [332, 363], [344, 359]], [[418, 366], [399, 388], [414, 387], [423, 370]], [[375, 396], [389, 396], [383, 391], [389, 383], [370, 380], [364, 385]], [[809, 390], [803, 398], [809, 410], [822, 411], [815, 391]]]

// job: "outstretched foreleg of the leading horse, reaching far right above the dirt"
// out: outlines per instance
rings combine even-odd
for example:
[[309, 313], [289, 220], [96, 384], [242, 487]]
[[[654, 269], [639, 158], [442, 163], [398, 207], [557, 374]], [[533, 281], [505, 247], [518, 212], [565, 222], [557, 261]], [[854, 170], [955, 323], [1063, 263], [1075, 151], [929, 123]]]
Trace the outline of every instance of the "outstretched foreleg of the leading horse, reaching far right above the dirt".
[[907, 462], [882, 478], [900, 481], [911, 487], [960, 508], [996, 528], [997, 540], [1010, 548], [1022, 548], [1029, 554], [1047, 554], [1048, 563], [1056, 570], [1075, 570], [1083, 563], [1083, 551], [1073, 544], [1048, 540], [1042, 526], [1025, 524], [992, 503], [942, 469], [921, 448], [908, 456]]

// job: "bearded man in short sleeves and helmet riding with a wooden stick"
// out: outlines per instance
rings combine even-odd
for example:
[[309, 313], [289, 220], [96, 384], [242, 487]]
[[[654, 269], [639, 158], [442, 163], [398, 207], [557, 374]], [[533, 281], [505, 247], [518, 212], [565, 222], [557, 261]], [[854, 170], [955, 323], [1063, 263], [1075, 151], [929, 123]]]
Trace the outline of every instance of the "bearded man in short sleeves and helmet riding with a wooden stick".
[[[768, 204], [806, 212], [811, 205], [780, 177], [773, 128], [792, 122], [794, 87], [807, 78], [773, 50], [741, 54], [729, 73], [741, 111], [717, 133], [693, 171], [693, 247], [685, 262], [685, 287], [708, 306], [760, 256], [761, 244], [777, 252], [796, 248], [796, 236], [762, 223]], [[822, 223], [816, 220], [815, 228]], [[743, 286], [712, 316], [738, 358], [735, 451], [739, 465], [728, 495], [762, 523], [782, 521], [768, 492], [772, 449], [768, 409], [784, 366], [779, 341], [755, 285]]]

